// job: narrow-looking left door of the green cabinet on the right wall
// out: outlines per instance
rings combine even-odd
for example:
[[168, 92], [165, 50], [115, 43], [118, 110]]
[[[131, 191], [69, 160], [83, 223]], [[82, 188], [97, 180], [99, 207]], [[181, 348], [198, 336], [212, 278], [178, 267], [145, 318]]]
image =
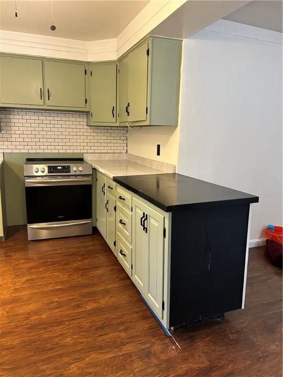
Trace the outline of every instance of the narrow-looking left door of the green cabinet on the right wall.
[[119, 64], [119, 122], [127, 122], [128, 94], [128, 57]]

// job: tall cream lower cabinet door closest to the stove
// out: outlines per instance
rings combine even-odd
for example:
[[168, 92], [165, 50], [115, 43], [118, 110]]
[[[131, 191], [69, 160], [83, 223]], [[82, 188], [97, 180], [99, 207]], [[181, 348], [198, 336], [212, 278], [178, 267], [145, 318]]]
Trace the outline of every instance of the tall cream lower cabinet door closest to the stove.
[[96, 174], [96, 227], [106, 238], [106, 177]]

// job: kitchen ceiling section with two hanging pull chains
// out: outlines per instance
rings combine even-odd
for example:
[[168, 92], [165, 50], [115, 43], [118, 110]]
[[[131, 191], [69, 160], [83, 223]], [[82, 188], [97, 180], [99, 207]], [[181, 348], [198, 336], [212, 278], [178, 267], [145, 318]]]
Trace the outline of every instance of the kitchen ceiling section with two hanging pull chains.
[[149, 0], [0, 0], [0, 29], [81, 41], [116, 38]]

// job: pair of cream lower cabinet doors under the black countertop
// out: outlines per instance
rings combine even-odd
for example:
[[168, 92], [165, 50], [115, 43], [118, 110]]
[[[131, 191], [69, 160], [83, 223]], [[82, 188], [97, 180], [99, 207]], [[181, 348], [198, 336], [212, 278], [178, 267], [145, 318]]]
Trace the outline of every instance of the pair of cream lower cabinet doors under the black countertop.
[[133, 198], [132, 279], [149, 306], [163, 318], [165, 216]]

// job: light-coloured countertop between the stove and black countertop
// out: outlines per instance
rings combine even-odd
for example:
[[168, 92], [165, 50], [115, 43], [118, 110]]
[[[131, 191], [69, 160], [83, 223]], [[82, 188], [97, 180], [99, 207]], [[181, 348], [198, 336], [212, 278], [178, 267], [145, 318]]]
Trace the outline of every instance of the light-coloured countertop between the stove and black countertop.
[[164, 171], [142, 165], [129, 160], [92, 160], [85, 158], [85, 162], [92, 164], [96, 170], [104, 173], [110, 178], [118, 176], [162, 174]]

